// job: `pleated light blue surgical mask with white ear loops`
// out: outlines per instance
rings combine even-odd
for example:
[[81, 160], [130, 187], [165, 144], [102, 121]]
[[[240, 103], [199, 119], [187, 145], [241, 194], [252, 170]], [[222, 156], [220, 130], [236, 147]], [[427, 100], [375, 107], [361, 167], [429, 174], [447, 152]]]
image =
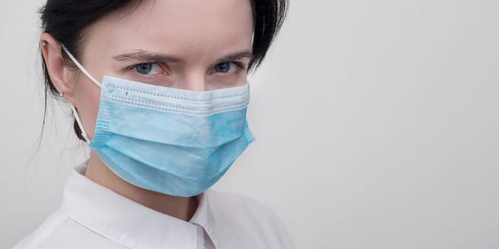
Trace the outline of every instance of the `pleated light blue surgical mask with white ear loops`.
[[103, 83], [69, 57], [100, 90], [93, 152], [120, 178], [142, 189], [195, 196], [209, 189], [253, 142], [249, 85], [206, 92], [105, 76]]

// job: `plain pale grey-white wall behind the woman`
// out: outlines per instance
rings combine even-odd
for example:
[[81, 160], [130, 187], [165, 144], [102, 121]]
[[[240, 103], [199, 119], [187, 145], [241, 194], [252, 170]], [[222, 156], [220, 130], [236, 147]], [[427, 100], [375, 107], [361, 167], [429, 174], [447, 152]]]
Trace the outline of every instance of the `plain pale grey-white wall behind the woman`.
[[[35, 154], [39, 6], [0, 7], [0, 248], [58, 206], [85, 158], [58, 102]], [[294, 0], [252, 78], [257, 142], [216, 189], [267, 203], [298, 248], [499, 248], [498, 9]]]

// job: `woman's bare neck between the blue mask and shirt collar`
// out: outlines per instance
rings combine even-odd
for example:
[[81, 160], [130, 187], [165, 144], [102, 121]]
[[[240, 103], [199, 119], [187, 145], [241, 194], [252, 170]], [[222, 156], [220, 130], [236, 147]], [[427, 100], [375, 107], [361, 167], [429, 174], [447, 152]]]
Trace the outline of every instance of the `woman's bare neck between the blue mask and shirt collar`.
[[198, 206], [195, 196], [169, 196], [128, 183], [112, 172], [93, 152], [90, 153], [85, 176], [132, 201], [184, 221], [189, 221], [194, 216]]

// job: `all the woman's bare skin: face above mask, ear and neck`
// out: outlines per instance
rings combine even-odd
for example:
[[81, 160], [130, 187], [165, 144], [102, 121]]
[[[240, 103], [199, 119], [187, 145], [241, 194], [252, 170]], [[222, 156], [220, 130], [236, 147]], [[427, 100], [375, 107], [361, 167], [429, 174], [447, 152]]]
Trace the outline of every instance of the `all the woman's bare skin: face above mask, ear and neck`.
[[[138, 7], [133, 4], [100, 18], [86, 32], [88, 38], [78, 60], [101, 83], [104, 75], [194, 91], [246, 83], [253, 34], [250, 1], [146, 0]], [[83, 127], [93, 139], [100, 88], [63, 63], [61, 46], [53, 36], [43, 33], [40, 42], [52, 82], [78, 109]], [[142, 56], [130, 56], [137, 54]], [[240, 56], [228, 58], [231, 55]], [[184, 221], [198, 206], [194, 196], [168, 196], [127, 183], [93, 152], [85, 176], [132, 201]]]

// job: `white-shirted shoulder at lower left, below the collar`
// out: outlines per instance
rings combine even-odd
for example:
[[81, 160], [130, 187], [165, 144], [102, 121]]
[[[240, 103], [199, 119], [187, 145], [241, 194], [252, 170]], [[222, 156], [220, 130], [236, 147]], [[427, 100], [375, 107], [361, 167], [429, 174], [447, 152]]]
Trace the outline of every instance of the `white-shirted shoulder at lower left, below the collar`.
[[76, 223], [65, 213], [55, 211], [13, 249], [112, 248], [123, 249], [101, 235]]

